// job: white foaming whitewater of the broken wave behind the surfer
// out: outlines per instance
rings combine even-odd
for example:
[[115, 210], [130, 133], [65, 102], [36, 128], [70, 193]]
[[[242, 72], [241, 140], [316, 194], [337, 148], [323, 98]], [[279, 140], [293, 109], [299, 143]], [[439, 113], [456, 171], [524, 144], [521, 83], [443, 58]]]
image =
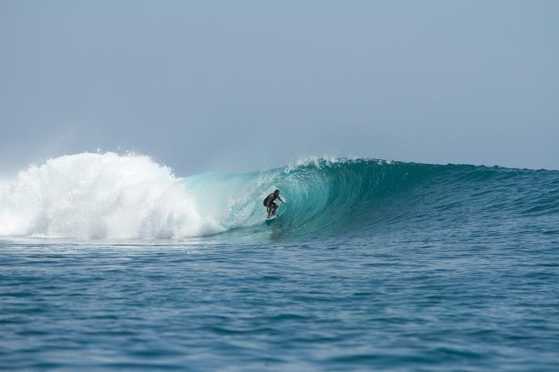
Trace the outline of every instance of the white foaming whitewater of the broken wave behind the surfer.
[[225, 201], [189, 184], [147, 156], [53, 158], [0, 179], [0, 236], [194, 237], [258, 222], [261, 184]]

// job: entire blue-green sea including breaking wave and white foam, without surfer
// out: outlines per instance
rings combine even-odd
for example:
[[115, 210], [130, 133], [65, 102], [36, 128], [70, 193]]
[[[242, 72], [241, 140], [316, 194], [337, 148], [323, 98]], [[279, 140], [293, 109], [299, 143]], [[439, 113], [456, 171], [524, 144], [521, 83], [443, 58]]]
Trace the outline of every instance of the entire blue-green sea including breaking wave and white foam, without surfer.
[[84, 153], [0, 178], [0, 369], [552, 371], [558, 350], [558, 171], [183, 178]]

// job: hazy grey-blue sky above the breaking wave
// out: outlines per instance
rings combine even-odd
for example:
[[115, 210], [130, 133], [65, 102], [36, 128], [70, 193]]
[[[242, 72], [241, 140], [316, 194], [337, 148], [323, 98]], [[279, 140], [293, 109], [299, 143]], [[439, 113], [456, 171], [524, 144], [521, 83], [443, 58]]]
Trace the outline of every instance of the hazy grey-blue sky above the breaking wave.
[[134, 150], [559, 169], [559, 1], [0, 0], [0, 171]]

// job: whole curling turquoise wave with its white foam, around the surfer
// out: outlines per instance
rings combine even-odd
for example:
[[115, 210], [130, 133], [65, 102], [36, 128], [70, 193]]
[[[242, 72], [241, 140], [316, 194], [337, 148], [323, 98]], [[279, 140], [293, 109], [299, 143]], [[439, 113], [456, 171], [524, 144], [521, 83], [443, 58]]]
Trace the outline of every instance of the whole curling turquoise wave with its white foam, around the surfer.
[[[286, 204], [266, 223], [262, 200]], [[147, 156], [76, 154], [0, 180], [0, 236], [151, 239], [370, 237], [430, 229], [556, 235], [559, 172], [314, 159], [175, 177]], [[224, 234], [222, 234], [224, 233]]]

